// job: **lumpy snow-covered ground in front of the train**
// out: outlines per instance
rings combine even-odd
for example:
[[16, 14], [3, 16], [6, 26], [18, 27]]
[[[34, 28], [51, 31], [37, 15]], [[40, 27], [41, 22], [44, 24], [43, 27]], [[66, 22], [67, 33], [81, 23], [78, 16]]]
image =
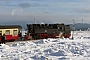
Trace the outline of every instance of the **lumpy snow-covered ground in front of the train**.
[[[71, 36], [72, 37], [72, 36]], [[0, 46], [1, 60], [90, 60], [90, 31], [75, 31], [74, 40], [57, 38]]]

